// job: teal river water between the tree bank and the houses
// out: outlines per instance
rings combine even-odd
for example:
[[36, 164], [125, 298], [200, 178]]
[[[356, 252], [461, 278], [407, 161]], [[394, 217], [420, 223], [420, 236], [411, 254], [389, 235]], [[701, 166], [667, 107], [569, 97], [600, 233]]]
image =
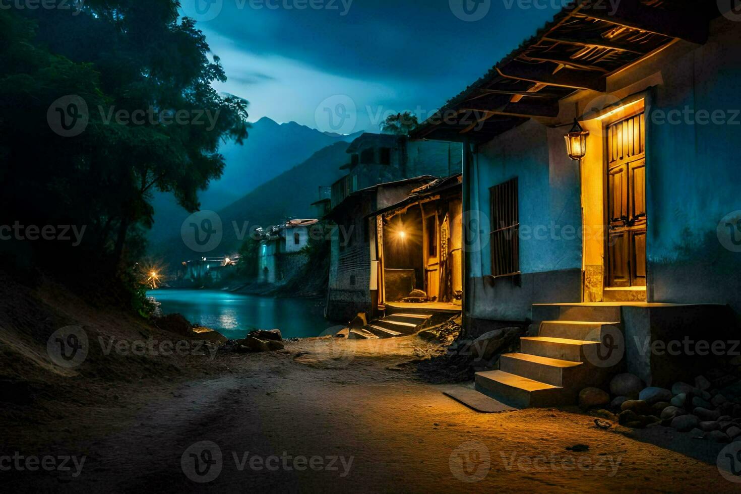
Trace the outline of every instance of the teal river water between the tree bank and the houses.
[[188, 321], [219, 331], [227, 338], [244, 338], [254, 329], [281, 330], [283, 338], [319, 336], [329, 327], [321, 300], [268, 298], [215, 290], [150, 290], [163, 314], [180, 313]]

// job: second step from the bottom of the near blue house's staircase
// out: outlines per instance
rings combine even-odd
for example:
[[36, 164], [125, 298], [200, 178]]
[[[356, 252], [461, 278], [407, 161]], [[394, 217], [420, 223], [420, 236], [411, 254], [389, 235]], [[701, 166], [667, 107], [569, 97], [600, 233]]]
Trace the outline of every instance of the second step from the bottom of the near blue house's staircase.
[[588, 371], [586, 364], [526, 353], [505, 353], [499, 358], [499, 370], [520, 375], [552, 386], [574, 387]]

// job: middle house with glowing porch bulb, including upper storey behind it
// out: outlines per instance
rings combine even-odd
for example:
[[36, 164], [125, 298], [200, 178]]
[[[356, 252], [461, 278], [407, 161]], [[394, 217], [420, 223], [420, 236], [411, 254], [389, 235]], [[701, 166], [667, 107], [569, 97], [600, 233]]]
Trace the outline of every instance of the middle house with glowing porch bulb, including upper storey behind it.
[[433, 313], [459, 313], [461, 145], [364, 133], [348, 154], [327, 217], [335, 229], [326, 316], [360, 316], [350, 337], [385, 338]]

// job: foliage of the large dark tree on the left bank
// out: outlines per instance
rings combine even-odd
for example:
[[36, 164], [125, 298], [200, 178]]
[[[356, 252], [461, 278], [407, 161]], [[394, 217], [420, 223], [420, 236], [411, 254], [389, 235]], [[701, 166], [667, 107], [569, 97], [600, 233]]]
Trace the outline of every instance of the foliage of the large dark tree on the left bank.
[[[154, 190], [198, 210], [199, 191], [222, 175], [219, 144], [247, 138], [247, 101], [213, 89], [223, 67], [178, 7], [87, 0], [79, 13], [0, 10], [0, 224], [85, 227], [78, 247], [10, 242], [6, 255], [39, 264], [53, 253], [50, 264], [87, 259], [115, 273], [142, 251]], [[74, 111], [87, 125], [62, 136], [53, 120], [70, 107], [54, 104], [70, 96], [84, 101], [87, 112]]]

